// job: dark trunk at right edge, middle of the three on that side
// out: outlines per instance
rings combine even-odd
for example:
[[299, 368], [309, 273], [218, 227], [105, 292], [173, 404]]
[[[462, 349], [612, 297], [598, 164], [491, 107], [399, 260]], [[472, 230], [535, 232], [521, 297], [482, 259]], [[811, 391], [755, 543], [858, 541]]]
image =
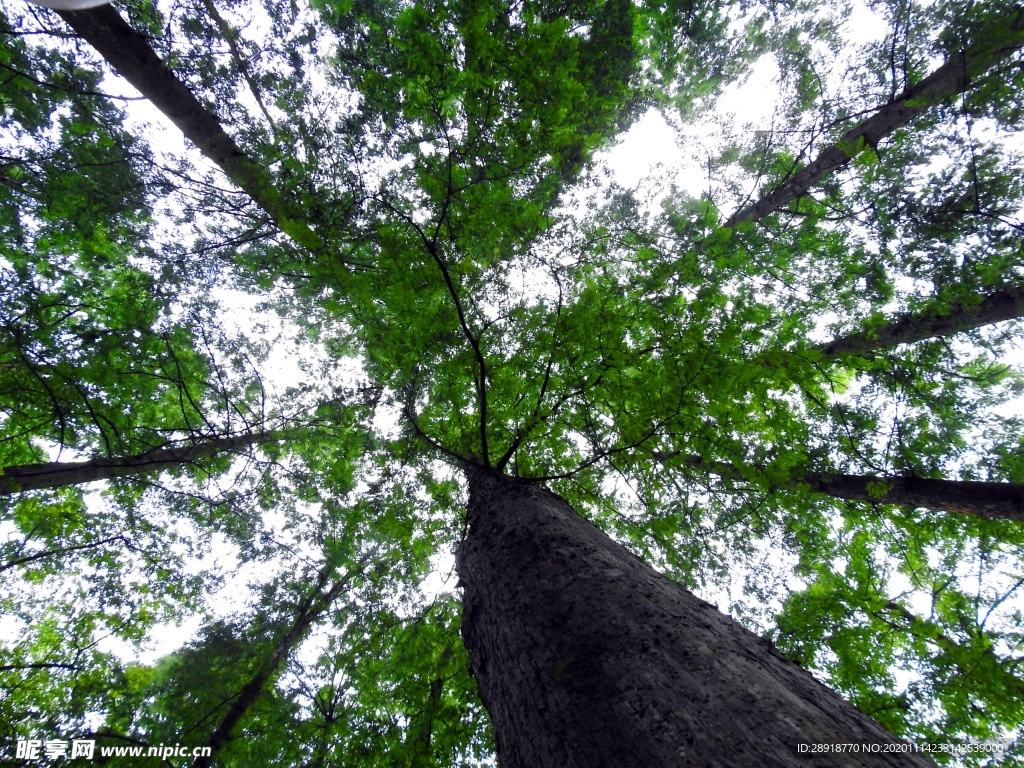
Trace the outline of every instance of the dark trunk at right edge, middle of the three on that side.
[[980, 301], [959, 301], [951, 306], [905, 312], [882, 328], [849, 334], [815, 349], [827, 358], [866, 354], [899, 344], [937, 339], [1017, 319], [1024, 314], [1024, 289], [1008, 286], [985, 294]]

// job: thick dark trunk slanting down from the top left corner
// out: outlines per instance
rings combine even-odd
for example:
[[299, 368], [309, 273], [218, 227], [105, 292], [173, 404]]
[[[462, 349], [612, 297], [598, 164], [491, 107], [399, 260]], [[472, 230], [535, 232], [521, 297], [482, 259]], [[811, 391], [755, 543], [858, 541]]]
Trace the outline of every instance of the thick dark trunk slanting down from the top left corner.
[[112, 5], [80, 11], [57, 11], [78, 35], [106, 59], [115, 72], [150, 99], [175, 126], [217, 164], [224, 174], [266, 211], [292, 240], [314, 253], [323, 241], [274, 186], [267, 170], [246, 155], [142, 35]]

